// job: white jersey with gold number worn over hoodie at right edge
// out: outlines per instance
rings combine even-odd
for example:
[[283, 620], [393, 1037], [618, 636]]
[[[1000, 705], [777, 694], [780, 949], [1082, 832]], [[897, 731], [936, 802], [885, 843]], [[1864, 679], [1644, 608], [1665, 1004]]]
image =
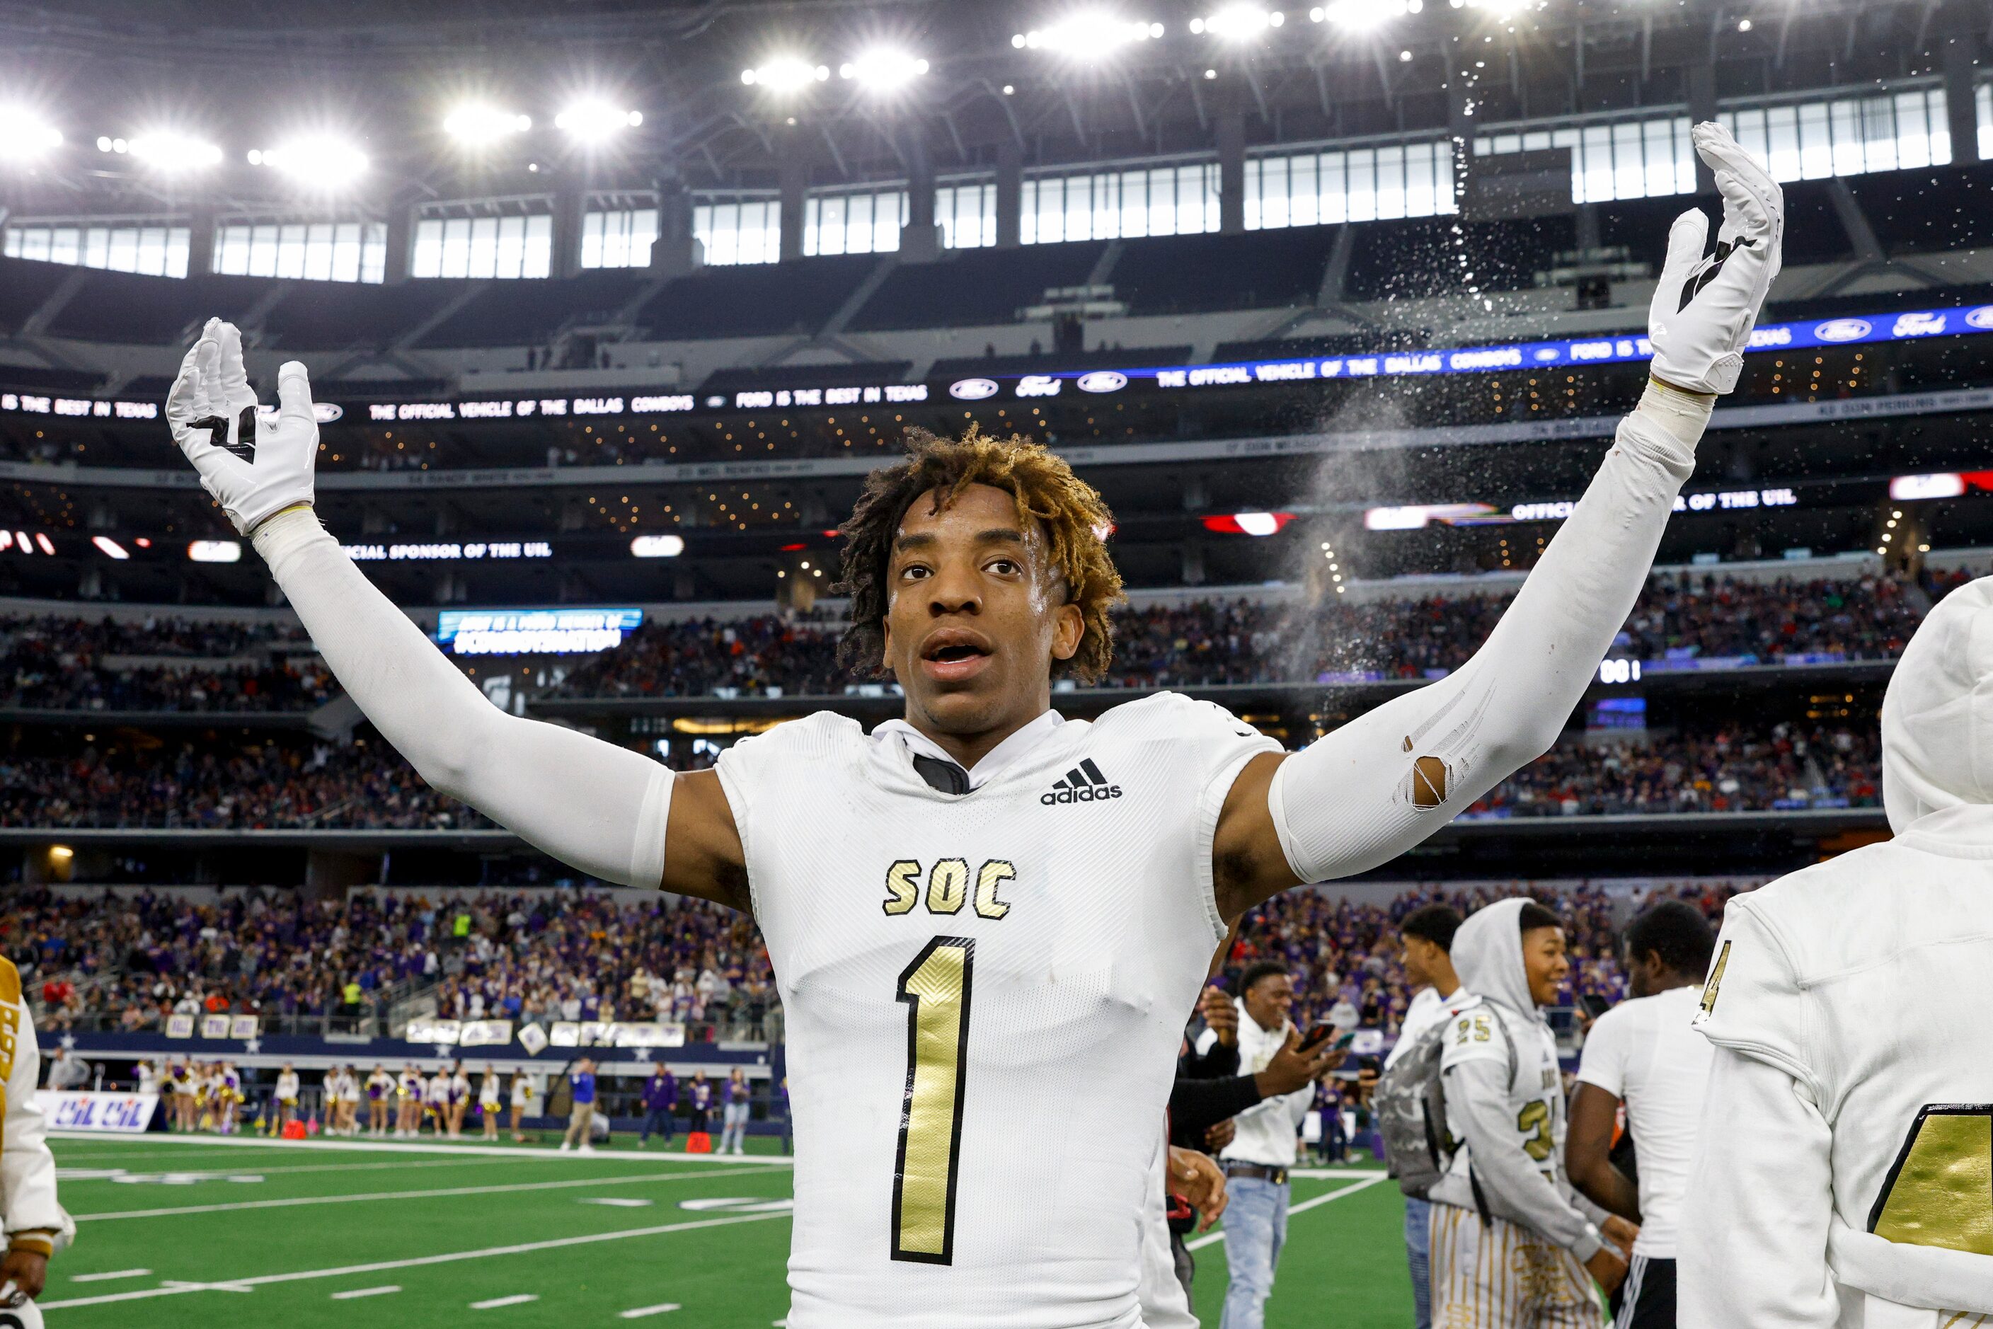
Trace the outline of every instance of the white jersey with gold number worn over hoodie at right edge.
[[[1891, 1303], [1993, 1311], [1989, 855], [1993, 809], [1959, 807], [1736, 897], [1694, 1016], [1820, 1106], [1828, 1267], [1867, 1293], [1869, 1325]], [[1722, 1223], [1720, 1196], [1704, 1199]]]

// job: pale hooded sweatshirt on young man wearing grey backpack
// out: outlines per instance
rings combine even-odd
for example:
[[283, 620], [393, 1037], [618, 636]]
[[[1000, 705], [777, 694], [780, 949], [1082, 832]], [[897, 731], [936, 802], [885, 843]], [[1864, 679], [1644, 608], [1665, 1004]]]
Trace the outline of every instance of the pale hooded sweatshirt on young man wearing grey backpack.
[[1523, 968], [1519, 915], [1527, 903], [1497, 901], [1453, 934], [1453, 970], [1475, 996], [1453, 1014], [1439, 1064], [1447, 1132], [1465, 1148], [1433, 1188], [1433, 1201], [1479, 1209], [1479, 1182], [1491, 1215], [1590, 1259], [1604, 1245], [1604, 1209], [1565, 1178], [1565, 1080], [1557, 1038]]

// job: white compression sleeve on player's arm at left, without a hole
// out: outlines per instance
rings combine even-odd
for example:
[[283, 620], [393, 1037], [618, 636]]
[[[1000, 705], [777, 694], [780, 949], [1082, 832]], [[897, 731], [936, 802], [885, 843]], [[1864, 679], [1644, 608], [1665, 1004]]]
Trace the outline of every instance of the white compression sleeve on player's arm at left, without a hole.
[[311, 508], [273, 516], [253, 538], [339, 683], [425, 781], [590, 877], [658, 887], [670, 769], [500, 711], [375, 590]]

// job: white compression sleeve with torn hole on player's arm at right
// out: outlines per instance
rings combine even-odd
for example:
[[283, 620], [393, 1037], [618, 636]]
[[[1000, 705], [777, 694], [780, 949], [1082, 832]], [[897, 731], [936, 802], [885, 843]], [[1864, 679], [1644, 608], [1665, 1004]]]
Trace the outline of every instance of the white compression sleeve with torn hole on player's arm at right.
[[1295, 877], [1387, 863], [1551, 749], [1646, 584], [1710, 402], [1650, 383], [1473, 660], [1280, 763], [1268, 811]]

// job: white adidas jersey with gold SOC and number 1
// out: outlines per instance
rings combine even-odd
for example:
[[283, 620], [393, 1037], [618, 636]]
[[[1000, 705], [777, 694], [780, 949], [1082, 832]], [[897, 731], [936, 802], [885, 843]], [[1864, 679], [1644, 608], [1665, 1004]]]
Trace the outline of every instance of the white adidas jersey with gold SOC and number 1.
[[1140, 1323], [1184, 1022], [1224, 940], [1212, 837], [1280, 751], [1162, 693], [965, 795], [811, 715], [719, 759], [789, 1034], [789, 1325]]

